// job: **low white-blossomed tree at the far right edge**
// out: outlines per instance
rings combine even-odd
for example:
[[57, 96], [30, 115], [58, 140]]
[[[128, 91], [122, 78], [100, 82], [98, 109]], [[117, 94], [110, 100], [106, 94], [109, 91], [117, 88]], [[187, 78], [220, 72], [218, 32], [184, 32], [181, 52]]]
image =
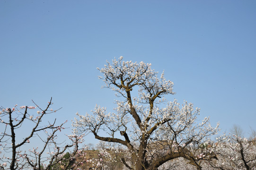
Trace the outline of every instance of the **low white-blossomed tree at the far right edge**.
[[255, 141], [256, 138], [223, 135], [211, 147], [218, 160], [210, 160], [206, 165], [220, 170], [256, 170]]

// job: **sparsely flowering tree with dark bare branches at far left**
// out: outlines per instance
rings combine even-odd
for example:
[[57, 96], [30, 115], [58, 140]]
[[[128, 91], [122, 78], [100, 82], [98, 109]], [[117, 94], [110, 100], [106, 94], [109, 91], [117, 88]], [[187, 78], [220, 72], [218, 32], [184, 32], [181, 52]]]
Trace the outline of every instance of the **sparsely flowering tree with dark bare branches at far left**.
[[[35, 104], [35, 103], [34, 103]], [[51, 108], [52, 99], [43, 109], [35, 106], [15, 105], [11, 108], [1, 108], [0, 111], [0, 170], [67, 170], [77, 169], [85, 159], [84, 148], [79, 147], [83, 135], [69, 135], [70, 143], [57, 139], [57, 133], [65, 127], [64, 123], [56, 125], [56, 119], [44, 123], [46, 115], [56, 112]], [[35, 110], [35, 114], [29, 110]], [[23, 125], [29, 127], [28, 131]], [[23, 137], [18, 137], [18, 133]], [[39, 140], [37, 147], [26, 149], [35, 139]], [[41, 139], [41, 142], [40, 142]], [[65, 156], [69, 152], [69, 156]], [[77, 161], [77, 158], [81, 161]]]

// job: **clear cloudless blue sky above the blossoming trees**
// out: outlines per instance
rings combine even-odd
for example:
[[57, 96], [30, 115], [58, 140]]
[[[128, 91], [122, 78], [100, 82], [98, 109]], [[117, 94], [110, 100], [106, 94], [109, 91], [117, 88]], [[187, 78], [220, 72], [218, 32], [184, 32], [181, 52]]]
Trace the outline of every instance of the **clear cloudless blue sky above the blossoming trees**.
[[95, 104], [111, 111], [96, 68], [121, 55], [165, 70], [171, 100], [193, 102], [212, 125], [256, 129], [255, 0], [0, 0], [4, 108], [53, 97], [52, 116], [69, 126]]

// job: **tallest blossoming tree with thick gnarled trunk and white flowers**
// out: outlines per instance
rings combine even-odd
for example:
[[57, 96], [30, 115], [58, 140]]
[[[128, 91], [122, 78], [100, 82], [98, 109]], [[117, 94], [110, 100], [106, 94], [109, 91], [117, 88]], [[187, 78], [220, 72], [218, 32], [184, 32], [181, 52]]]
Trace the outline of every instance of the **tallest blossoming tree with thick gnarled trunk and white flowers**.
[[107, 113], [96, 105], [92, 114], [77, 113], [73, 121], [77, 132], [91, 132], [98, 140], [123, 145], [131, 159], [126, 161], [123, 154], [120, 161], [130, 170], [157, 170], [177, 158], [201, 169], [199, 159], [216, 158], [213, 153], [199, 158], [194, 148], [216, 134], [218, 125], [211, 127], [209, 118], [197, 122], [200, 109], [192, 103], [167, 102], [165, 95], [175, 93], [164, 73], [159, 76], [151, 64], [123, 61], [122, 56], [98, 70], [104, 87], [115, 91], [119, 99], [115, 112]]

